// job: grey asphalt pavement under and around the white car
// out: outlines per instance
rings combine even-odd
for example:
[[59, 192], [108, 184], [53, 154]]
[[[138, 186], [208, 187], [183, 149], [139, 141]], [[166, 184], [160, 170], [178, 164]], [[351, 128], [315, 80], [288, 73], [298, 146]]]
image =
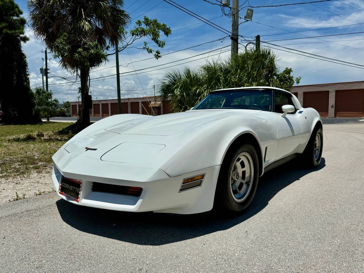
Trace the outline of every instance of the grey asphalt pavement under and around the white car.
[[0, 207], [0, 272], [364, 272], [364, 123], [324, 125], [318, 169], [260, 178], [242, 215], [120, 213], [55, 194]]

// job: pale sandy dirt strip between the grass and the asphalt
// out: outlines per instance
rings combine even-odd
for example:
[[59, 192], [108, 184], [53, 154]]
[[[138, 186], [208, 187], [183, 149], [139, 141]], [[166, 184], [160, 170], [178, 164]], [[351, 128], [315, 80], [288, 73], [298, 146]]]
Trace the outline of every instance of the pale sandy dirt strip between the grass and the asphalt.
[[[52, 167], [42, 173], [31, 173], [24, 177], [0, 178], [0, 205], [25, 198], [54, 192], [52, 183]], [[10, 201], [9, 201], [10, 200]]]

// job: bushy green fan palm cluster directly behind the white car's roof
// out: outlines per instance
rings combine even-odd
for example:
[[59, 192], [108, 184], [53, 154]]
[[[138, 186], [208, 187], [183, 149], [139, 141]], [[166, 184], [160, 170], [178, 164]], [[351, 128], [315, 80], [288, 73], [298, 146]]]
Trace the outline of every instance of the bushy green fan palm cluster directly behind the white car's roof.
[[278, 56], [268, 49], [247, 50], [223, 62], [210, 62], [195, 71], [171, 70], [159, 84], [159, 100], [170, 100], [174, 112], [189, 110], [210, 91], [230, 87], [272, 86], [290, 90], [292, 68], [280, 72]]

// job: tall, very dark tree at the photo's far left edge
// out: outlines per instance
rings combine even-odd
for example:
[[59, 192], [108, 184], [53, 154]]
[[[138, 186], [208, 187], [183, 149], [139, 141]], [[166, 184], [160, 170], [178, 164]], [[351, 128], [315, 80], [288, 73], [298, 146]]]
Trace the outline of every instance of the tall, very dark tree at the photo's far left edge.
[[0, 0], [0, 111], [1, 122], [29, 123], [33, 115], [33, 93], [29, 87], [28, 64], [21, 50], [26, 20], [14, 0]]

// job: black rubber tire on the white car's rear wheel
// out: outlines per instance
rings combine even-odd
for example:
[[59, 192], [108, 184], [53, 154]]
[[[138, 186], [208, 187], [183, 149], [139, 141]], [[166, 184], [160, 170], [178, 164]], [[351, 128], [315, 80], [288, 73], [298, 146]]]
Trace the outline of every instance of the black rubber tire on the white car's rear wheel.
[[[317, 150], [318, 154], [315, 154], [315, 150], [317, 149], [316, 136], [318, 136], [318, 139], [320, 140], [320, 148]], [[320, 126], [316, 126], [313, 129], [310, 140], [308, 141], [305, 151], [303, 152], [303, 160], [308, 168], [316, 168], [318, 165], [320, 165], [323, 145], [324, 138], [322, 128]]]

